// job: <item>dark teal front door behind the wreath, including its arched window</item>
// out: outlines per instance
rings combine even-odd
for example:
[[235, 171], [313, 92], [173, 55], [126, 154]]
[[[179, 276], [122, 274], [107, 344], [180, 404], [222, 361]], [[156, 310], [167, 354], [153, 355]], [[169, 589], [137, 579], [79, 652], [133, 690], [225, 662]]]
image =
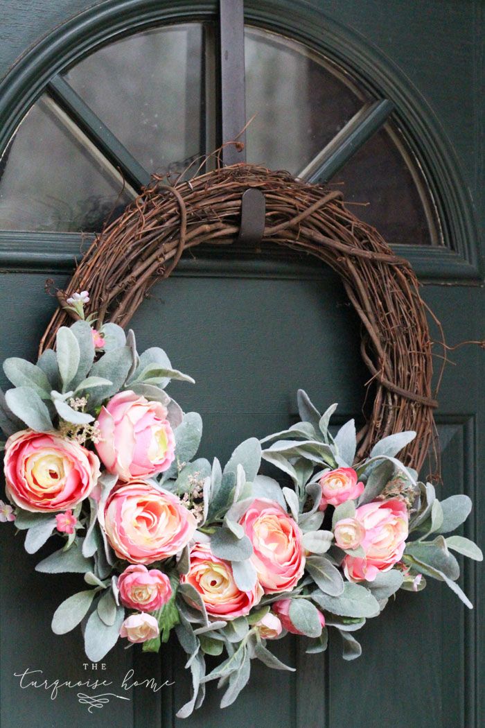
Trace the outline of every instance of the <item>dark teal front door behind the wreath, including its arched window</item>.
[[[217, 144], [217, 4], [110, 0], [69, 20], [91, 4], [7, 0], [1, 9], [1, 360], [33, 359], [55, 307], [45, 289], [63, 287], [92, 232], [144, 175], [176, 174]], [[329, 182], [412, 261], [449, 344], [484, 338], [482, 11], [479, 0], [246, 3], [248, 161], [317, 179], [339, 148], [332, 140], [352, 138], [353, 154], [337, 155]], [[369, 114], [382, 100], [386, 113]], [[209, 459], [293, 422], [298, 387], [320, 408], [339, 402], [342, 421], [361, 419], [368, 374], [358, 321], [315, 261], [208, 246], [180, 261], [132, 323], [141, 349], [164, 347], [196, 379], [171, 393], [201, 413]], [[438, 371], [438, 344], [435, 353]], [[467, 345], [448, 357], [439, 487], [473, 499], [465, 534], [483, 547], [483, 352]], [[47, 579], [20, 535], [2, 524], [0, 539], [2, 728], [484, 723], [483, 580], [473, 565], [462, 577], [473, 612], [438, 584], [399, 593], [361, 632], [358, 660], [342, 661], [337, 638], [318, 655], [286, 639], [276, 652], [296, 673], [258, 665], [234, 705], [220, 711], [209, 689], [184, 723], [175, 713], [190, 683], [177, 646], [158, 656], [119, 645], [91, 665], [79, 630], [50, 630], [80, 577]], [[65, 685], [88, 679], [115, 694], [91, 712], [82, 688]]]

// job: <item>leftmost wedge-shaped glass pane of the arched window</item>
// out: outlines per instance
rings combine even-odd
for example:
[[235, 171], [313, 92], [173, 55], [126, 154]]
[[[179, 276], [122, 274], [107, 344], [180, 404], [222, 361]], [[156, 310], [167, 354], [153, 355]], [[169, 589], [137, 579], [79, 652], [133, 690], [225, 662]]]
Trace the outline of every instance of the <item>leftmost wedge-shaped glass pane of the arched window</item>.
[[97, 231], [130, 199], [119, 173], [47, 97], [1, 160], [0, 229]]

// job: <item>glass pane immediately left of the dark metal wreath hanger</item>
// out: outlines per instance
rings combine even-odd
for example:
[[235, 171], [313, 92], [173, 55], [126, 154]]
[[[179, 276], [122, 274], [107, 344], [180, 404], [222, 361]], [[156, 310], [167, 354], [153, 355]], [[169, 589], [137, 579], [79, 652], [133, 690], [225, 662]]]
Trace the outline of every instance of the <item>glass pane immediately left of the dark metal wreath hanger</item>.
[[66, 76], [148, 172], [180, 172], [204, 151], [202, 35], [198, 23], [137, 33]]

